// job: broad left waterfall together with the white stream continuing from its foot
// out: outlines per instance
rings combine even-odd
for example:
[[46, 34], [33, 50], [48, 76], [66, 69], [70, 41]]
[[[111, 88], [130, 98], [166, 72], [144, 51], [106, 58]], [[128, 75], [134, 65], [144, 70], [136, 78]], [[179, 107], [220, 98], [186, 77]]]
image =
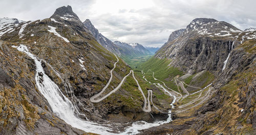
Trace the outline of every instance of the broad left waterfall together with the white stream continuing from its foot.
[[[28, 48], [22, 44], [17, 47], [17, 50], [26, 53], [30, 58], [34, 59], [36, 64], [35, 81], [40, 93], [47, 99], [53, 110], [53, 113], [55, 113], [59, 118], [73, 127], [82, 129], [86, 132], [94, 132], [98, 134], [137, 134], [139, 133], [139, 130], [159, 126], [172, 121], [170, 114], [171, 111], [169, 111], [168, 118], [165, 121], [158, 121], [154, 123], [138, 121], [134, 122], [132, 126], [125, 128], [124, 132], [112, 133], [110, 131], [113, 130], [110, 127], [105, 127], [103, 124], [82, 120], [76, 116], [75, 107], [73, 106], [72, 102], [62, 94], [59, 87], [45, 74], [44, 69], [41, 66], [41, 59], [31, 54]], [[175, 99], [172, 104], [176, 100], [176, 97], [173, 97]]]

